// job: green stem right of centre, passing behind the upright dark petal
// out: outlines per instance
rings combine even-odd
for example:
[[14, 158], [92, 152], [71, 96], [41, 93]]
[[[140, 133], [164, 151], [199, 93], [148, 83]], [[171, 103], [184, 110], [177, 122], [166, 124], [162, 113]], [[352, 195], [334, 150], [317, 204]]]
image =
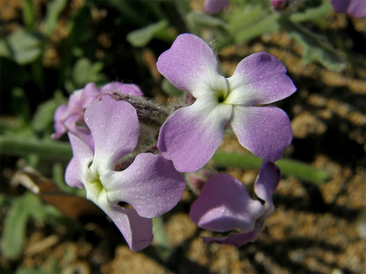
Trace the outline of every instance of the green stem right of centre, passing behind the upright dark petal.
[[[262, 159], [251, 154], [239, 154], [232, 152], [216, 151], [212, 157], [215, 165], [220, 167], [238, 167], [258, 170]], [[292, 175], [301, 180], [320, 185], [330, 179], [328, 171], [312, 167], [310, 164], [293, 160], [280, 159], [276, 165], [281, 169], [284, 175]]]

